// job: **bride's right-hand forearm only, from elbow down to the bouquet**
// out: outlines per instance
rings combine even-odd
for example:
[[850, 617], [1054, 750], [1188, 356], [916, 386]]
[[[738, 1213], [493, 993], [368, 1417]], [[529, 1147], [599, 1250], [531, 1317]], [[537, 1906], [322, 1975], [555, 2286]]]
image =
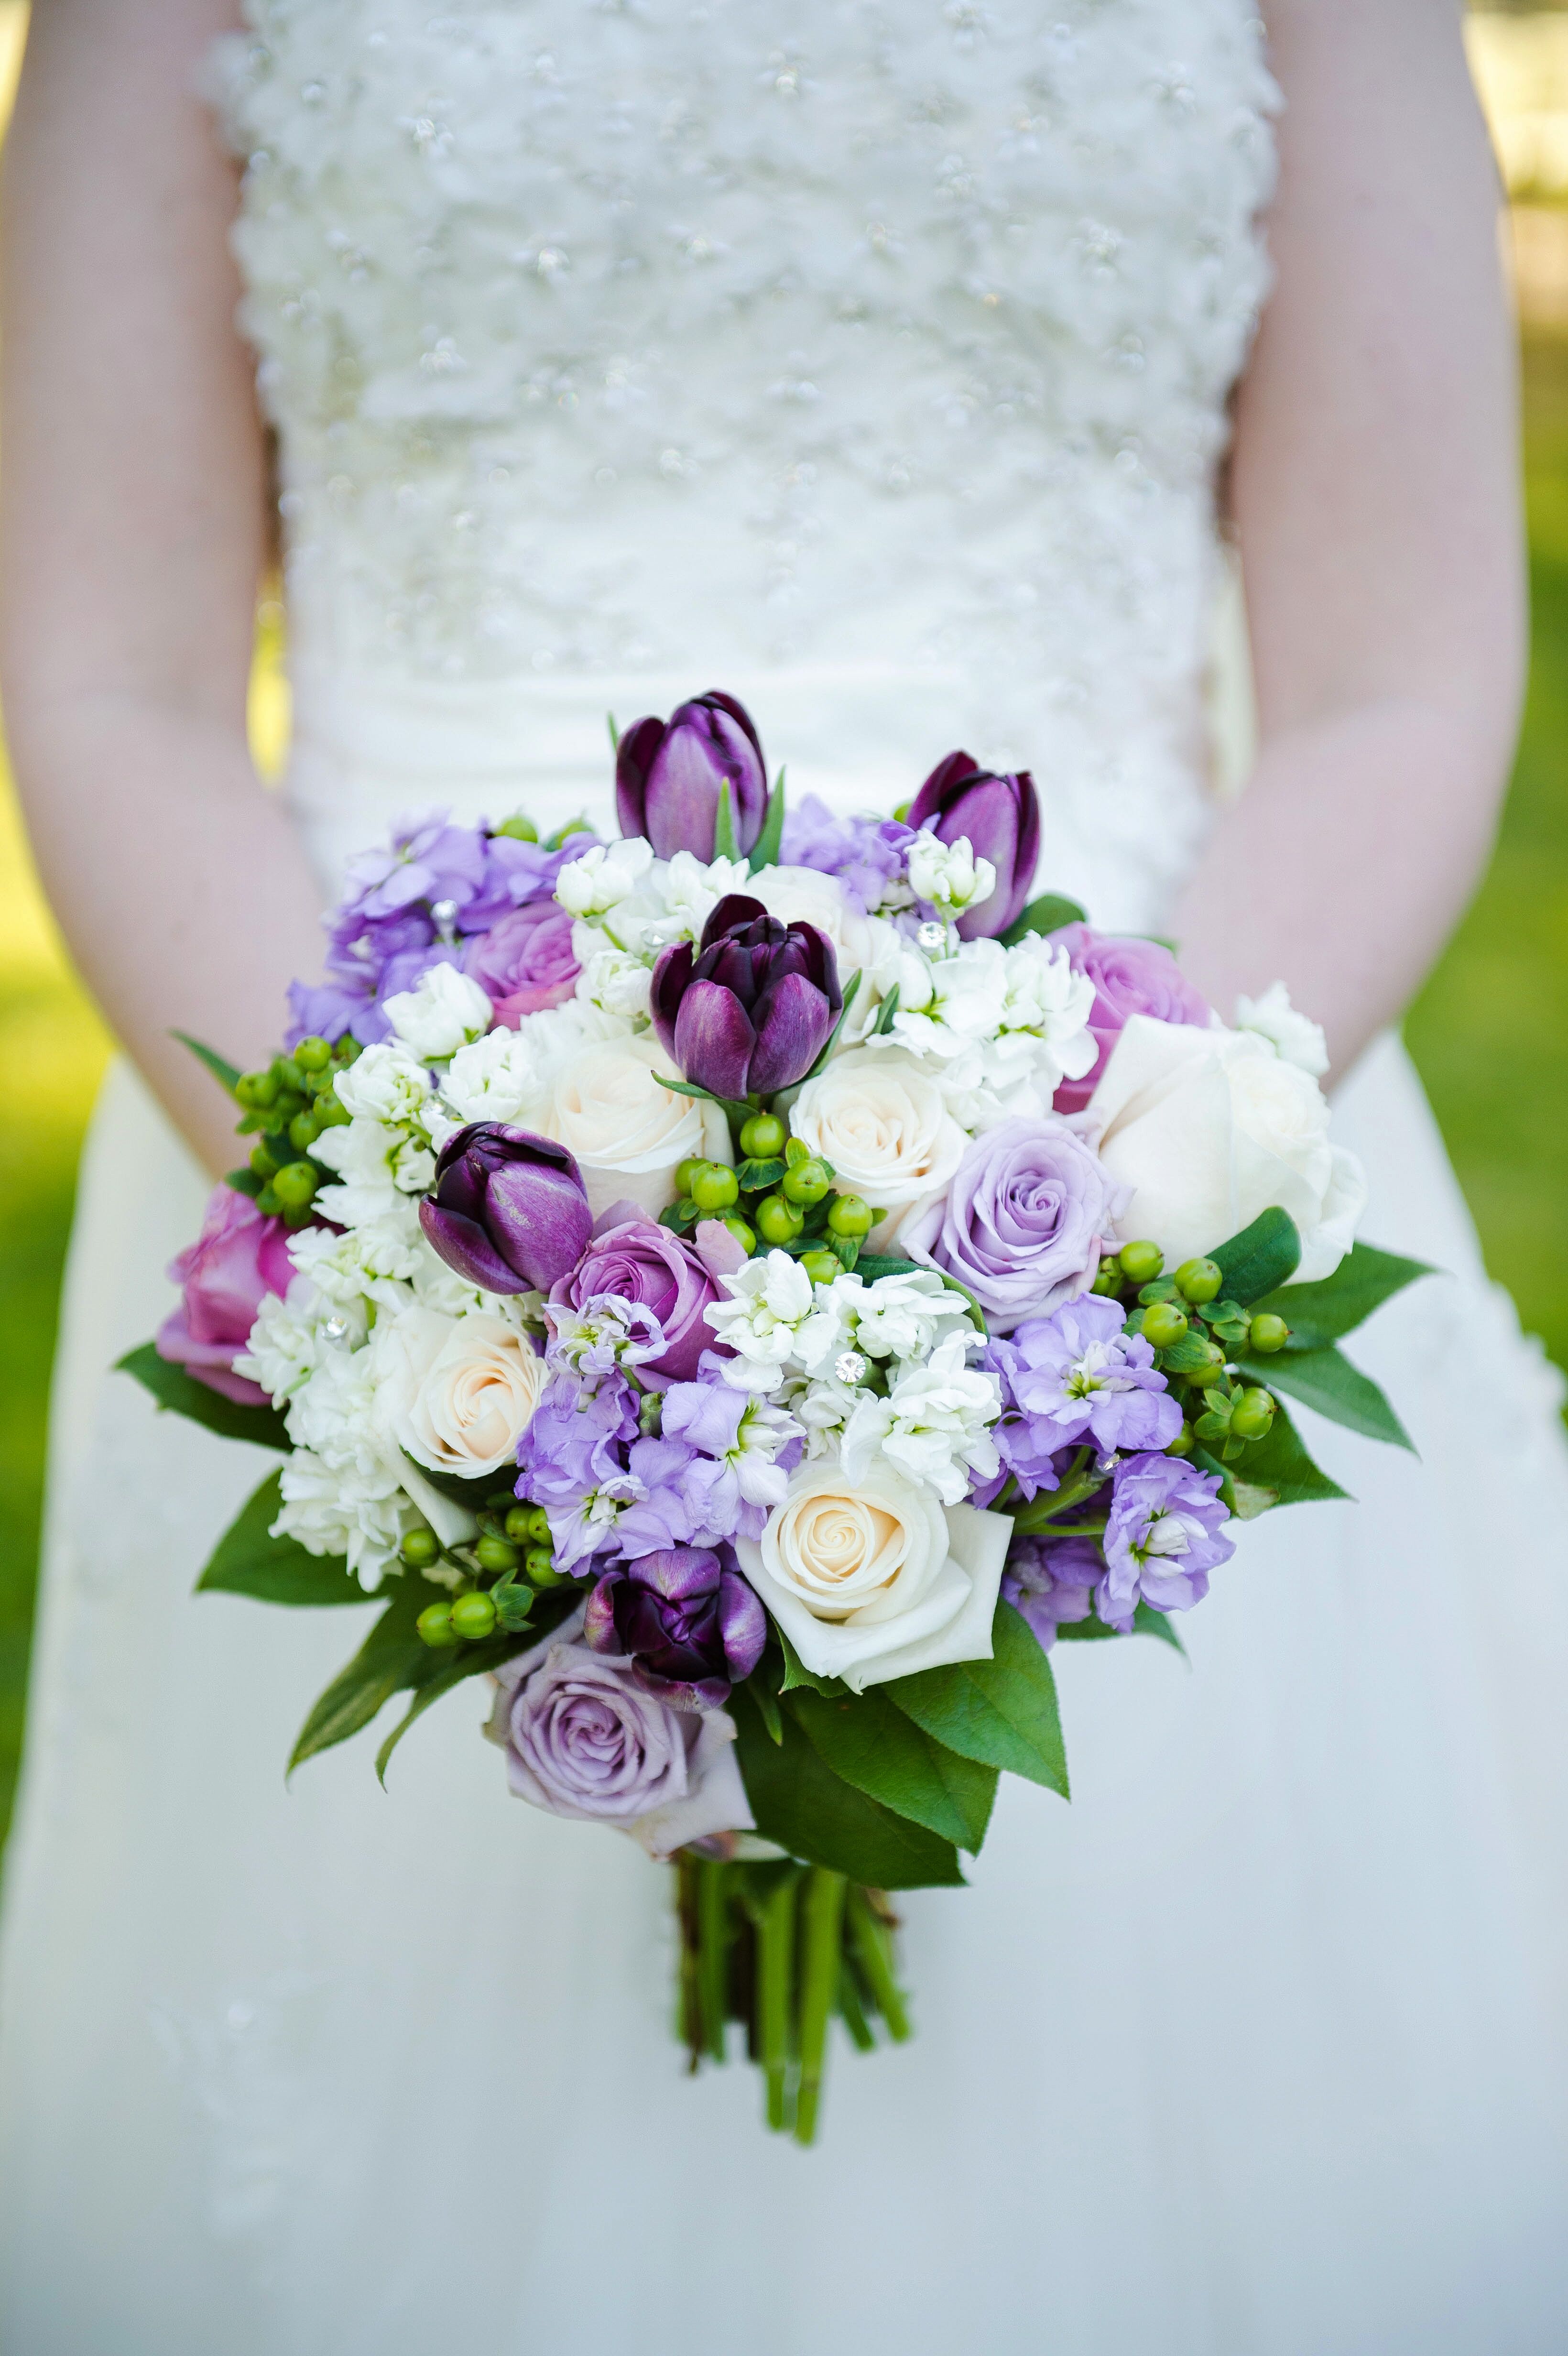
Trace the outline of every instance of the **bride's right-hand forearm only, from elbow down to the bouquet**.
[[1224, 1020], [1238, 992], [1283, 980], [1342, 1074], [1460, 919], [1504, 775], [1507, 728], [1427, 702], [1283, 730], [1182, 895], [1184, 968]]

